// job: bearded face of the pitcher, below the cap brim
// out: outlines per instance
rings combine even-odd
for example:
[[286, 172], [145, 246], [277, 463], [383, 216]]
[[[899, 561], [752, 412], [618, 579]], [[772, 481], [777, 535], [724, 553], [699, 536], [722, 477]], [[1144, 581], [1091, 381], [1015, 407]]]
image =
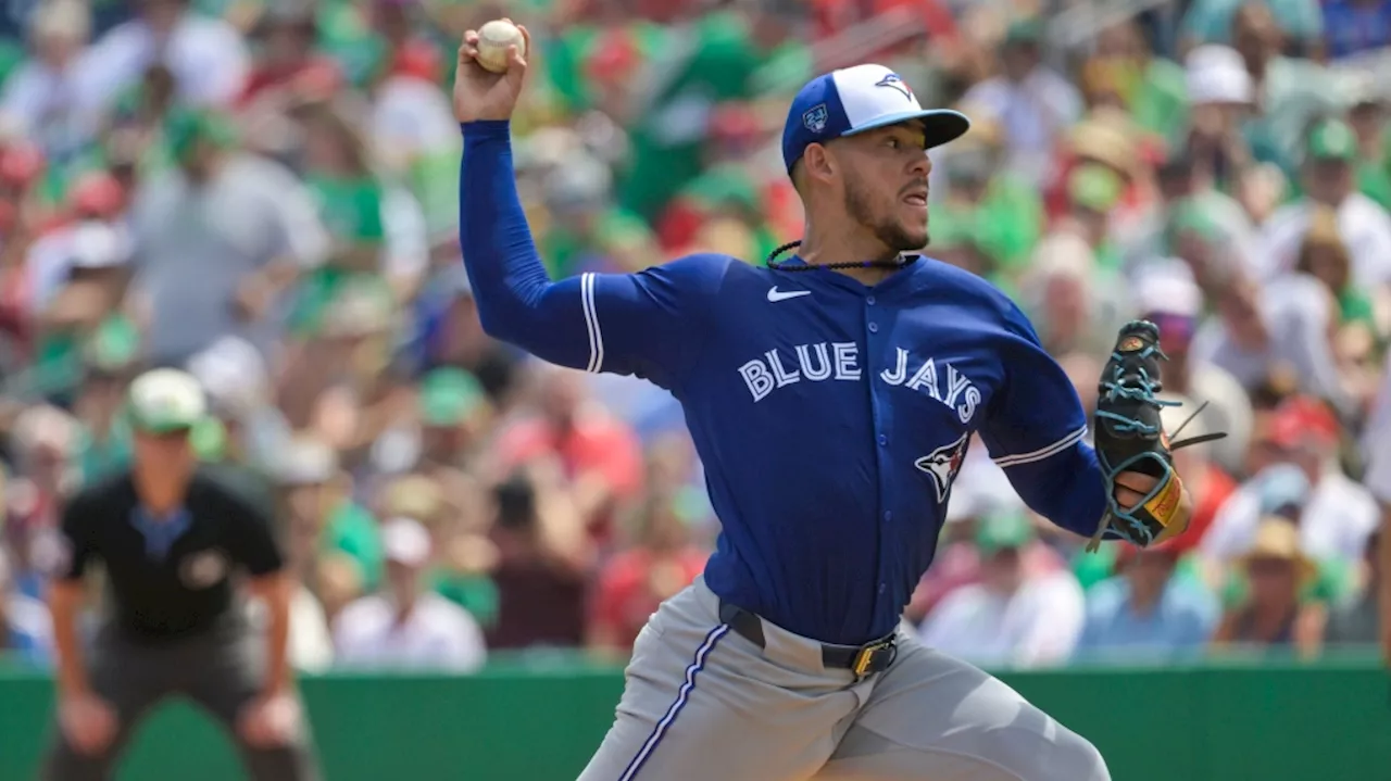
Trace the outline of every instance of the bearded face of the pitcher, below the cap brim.
[[928, 245], [928, 174], [921, 122], [904, 122], [844, 143], [844, 199], [851, 220], [893, 252]]

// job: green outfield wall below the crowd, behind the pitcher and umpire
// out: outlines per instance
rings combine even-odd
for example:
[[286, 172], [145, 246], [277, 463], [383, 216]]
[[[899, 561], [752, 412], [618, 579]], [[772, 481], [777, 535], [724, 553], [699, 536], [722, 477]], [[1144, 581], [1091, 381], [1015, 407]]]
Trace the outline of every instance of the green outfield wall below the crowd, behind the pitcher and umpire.
[[[1116, 781], [1391, 781], [1391, 677], [1372, 657], [1003, 677], [1091, 738]], [[569, 781], [622, 687], [620, 671], [573, 661], [303, 681], [328, 781]], [[35, 777], [51, 706], [46, 675], [0, 671], [0, 778]], [[243, 775], [217, 730], [171, 703], [139, 731], [118, 778]]]

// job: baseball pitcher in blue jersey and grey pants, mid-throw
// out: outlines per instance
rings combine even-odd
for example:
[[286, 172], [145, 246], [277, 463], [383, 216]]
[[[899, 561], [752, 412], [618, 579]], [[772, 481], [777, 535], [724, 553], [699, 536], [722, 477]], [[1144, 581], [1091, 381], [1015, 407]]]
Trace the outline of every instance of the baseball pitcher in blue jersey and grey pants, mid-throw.
[[484, 328], [547, 361], [669, 389], [722, 523], [704, 575], [637, 638], [580, 778], [1109, 778], [1084, 738], [899, 624], [975, 434], [1066, 529], [1141, 545], [1182, 531], [1155, 327], [1121, 332], [1093, 449], [1018, 307], [917, 252], [925, 150], [968, 120], [924, 110], [872, 64], [814, 79], [787, 114], [783, 160], [807, 214], [796, 254], [552, 282], [512, 170], [526, 61], [513, 49], [495, 75], [476, 57], [470, 32], [453, 88], [459, 231]]

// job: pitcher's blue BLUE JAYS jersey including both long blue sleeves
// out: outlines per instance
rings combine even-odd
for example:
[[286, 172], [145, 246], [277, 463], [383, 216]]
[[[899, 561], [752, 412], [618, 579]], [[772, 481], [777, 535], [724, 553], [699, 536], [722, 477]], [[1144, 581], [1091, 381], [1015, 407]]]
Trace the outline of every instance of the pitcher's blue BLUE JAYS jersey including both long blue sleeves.
[[821, 642], [893, 631], [974, 434], [1034, 510], [1095, 532], [1106, 488], [1081, 402], [981, 278], [922, 258], [865, 286], [697, 254], [551, 282], [508, 122], [463, 131], [460, 240], [484, 328], [680, 400], [722, 525], [705, 570], [722, 599]]

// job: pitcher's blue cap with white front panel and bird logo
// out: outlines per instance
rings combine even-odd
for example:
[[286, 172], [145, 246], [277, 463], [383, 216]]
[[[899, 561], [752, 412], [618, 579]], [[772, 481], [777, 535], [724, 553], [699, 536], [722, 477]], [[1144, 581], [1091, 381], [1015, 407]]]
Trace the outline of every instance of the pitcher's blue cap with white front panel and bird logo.
[[965, 114], [924, 108], [903, 78], [883, 65], [865, 64], [817, 76], [801, 88], [783, 125], [783, 163], [791, 171], [807, 147], [922, 120], [926, 149], [961, 138], [971, 128]]

